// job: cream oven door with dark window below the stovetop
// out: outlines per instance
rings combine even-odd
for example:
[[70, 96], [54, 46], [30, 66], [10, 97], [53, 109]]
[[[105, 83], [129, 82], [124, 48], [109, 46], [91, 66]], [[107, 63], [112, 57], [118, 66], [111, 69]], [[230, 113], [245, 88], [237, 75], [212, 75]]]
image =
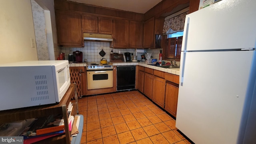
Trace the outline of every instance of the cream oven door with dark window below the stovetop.
[[112, 88], [113, 70], [87, 71], [87, 89]]

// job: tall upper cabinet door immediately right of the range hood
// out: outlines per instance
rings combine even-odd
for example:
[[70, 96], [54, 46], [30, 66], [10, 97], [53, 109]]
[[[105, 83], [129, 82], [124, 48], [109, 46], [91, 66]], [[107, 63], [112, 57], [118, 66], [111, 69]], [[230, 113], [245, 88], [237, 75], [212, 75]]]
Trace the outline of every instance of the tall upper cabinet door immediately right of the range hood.
[[128, 20], [114, 20], [114, 48], [128, 48]]

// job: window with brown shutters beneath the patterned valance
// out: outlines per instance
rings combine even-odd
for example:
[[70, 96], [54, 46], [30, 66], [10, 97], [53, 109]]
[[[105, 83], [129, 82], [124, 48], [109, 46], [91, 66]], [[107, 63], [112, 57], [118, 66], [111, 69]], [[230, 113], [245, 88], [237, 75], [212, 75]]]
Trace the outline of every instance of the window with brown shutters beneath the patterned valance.
[[174, 34], [168, 34], [164, 48], [165, 59], [180, 59], [181, 46], [182, 46], [183, 31]]

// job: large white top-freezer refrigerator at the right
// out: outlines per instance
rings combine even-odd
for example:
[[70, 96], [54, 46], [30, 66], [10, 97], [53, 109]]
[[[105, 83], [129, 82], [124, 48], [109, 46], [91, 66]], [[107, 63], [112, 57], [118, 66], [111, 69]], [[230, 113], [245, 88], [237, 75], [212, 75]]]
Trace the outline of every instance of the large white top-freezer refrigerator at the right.
[[256, 1], [186, 16], [176, 127], [196, 144], [256, 143]]

